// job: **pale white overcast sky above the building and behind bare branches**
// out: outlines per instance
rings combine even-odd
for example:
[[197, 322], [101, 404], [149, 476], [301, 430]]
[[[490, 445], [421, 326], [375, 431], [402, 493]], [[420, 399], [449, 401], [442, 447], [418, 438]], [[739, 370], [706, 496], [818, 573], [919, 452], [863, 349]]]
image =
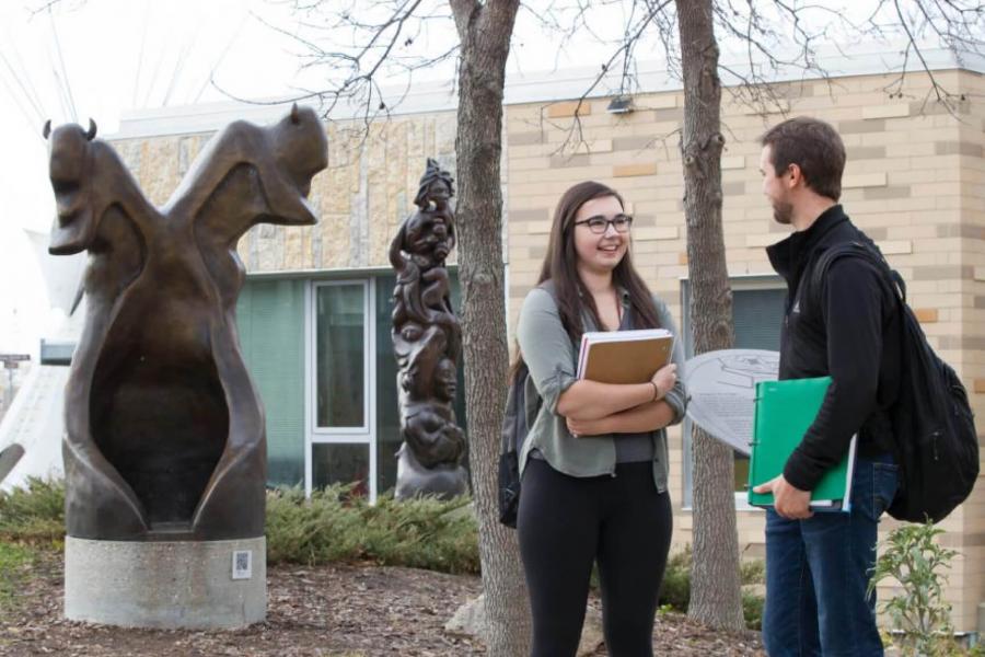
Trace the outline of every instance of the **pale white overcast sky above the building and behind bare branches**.
[[[854, 3], [857, 9], [860, 4]], [[54, 199], [47, 180], [42, 126], [93, 117], [101, 135], [116, 131], [121, 112], [224, 100], [209, 77], [243, 97], [277, 97], [304, 87], [301, 47], [264, 21], [292, 33], [303, 30], [285, 0], [62, 0], [33, 14], [44, 0], [0, 0], [0, 353], [36, 354], [50, 330], [40, 270], [24, 229], [47, 233]], [[529, 7], [547, 4], [531, 0]], [[831, 0], [828, 7], [841, 8]], [[618, 7], [591, 19], [603, 37], [624, 22]], [[451, 22], [436, 22], [418, 45], [431, 51], [454, 43]], [[344, 37], [340, 37], [344, 38]], [[558, 54], [521, 12], [509, 71], [598, 66], [611, 47], [581, 39]], [[637, 55], [651, 59], [657, 50]], [[452, 68], [433, 76], [449, 77]], [[308, 82], [318, 79], [309, 71]]]

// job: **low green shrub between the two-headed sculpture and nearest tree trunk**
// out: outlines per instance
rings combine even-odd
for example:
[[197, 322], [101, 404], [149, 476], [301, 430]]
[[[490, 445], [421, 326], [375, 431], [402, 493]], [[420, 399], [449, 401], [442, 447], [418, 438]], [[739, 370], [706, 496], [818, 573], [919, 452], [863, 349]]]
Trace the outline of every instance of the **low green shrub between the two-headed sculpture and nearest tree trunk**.
[[267, 560], [301, 564], [371, 561], [445, 573], [478, 573], [478, 532], [471, 514], [453, 514], [467, 498], [375, 505], [351, 495], [351, 486], [267, 495]]

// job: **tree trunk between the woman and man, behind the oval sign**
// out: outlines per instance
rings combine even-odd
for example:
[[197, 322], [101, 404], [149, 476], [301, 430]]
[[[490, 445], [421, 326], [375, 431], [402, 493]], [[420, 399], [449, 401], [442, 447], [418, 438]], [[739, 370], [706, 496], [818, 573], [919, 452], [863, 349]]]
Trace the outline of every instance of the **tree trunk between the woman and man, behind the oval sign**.
[[[721, 229], [721, 83], [712, 0], [676, 0], [684, 73], [684, 215], [695, 354], [732, 346], [732, 292]], [[732, 450], [695, 428], [691, 618], [743, 626]]]

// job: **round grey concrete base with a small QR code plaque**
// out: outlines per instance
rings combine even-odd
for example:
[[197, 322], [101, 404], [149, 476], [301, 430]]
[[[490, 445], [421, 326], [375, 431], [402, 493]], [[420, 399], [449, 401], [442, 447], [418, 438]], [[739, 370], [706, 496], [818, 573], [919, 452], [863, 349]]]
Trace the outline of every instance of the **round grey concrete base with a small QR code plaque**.
[[220, 630], [267, 613], [266, 539], [65, 539], [65, 616], [123, 627]]

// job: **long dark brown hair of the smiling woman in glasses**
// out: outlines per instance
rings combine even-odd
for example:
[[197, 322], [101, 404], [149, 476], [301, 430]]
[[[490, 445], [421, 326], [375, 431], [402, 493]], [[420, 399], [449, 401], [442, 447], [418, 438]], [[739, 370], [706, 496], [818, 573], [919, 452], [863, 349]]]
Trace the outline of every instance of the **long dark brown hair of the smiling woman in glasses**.
[[[551, 240], [547, 243], [547, 254], [541, 266], [541, 275], [537, 285], [545, 280], [554, 281], [554, 298], [557, 302], [557, 311], [561, 325], [567, 331], [572, 344], [581, 343], [581, 334], [584, 326], [581, 323], [582, 307], [589, 312], [595, 326], [601, 326], [599, 309], [595, 308], [595, 299], [581, 281], [578, 275], [578, 253], [575, 250], [575, 216], [589, 200], [612, 196], [625, 208], [625, 201], [618, 192], [596, 183], [586, 181], [570, 187], [560, 197], [557, 208], [554, 210], [554, 220], [551, 224]], [[629, 292], [629, 306], [633, 309], [634, 327], [659, 328], [660, 320], [657, 315], [657, 307], [647, 284], [633, 266], [629, 251], [619, 261], [612, 272], [613, 283]], [[517, 358], [510, 366], [510, 380], [512, 381], [523, 364], [523, 356], [517, 347]]]

